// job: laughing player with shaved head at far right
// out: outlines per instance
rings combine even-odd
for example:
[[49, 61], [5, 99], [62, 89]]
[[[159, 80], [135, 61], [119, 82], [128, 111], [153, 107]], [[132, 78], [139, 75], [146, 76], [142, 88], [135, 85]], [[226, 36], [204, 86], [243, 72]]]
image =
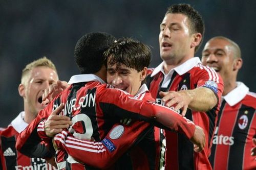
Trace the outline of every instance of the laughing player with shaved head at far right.
[[256, 136], [256, 94], [237, 82], [242, 63], [240, 47], [226, 37], [211, 38], [204, 46], [202, 64], [219, 72], [224, 82], [210, 155], [214, 169], [256, 169], [250, 156]]

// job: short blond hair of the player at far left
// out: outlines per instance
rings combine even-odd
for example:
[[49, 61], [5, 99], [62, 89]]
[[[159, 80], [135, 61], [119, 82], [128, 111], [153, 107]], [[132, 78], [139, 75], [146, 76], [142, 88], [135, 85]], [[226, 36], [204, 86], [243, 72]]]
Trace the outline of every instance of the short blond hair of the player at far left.
[[52, 68], [57, 73], [56, 67], [53, 64], [53, 62], [49, 60], [47, 57], [42, 57], [27, 64], [26, 67], [22, 70], [22, 79], [21, 79], [22, 84], [26, 84], [26, 79], [28, 78], [29, 72], [33, 68], [40, 67], [40, 66], [46, 66], [46, 67]]

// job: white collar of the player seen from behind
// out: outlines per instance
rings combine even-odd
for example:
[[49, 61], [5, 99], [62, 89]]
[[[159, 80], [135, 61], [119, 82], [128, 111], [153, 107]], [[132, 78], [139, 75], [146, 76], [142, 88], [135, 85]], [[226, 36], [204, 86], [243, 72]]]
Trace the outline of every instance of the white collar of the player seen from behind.
[[105, 82], [101, 78], [93, 74], [72, 76], [69, 80], [69, 84], [91, 82], [91, 81], [98, 81], [101, 84], [105, 84]]

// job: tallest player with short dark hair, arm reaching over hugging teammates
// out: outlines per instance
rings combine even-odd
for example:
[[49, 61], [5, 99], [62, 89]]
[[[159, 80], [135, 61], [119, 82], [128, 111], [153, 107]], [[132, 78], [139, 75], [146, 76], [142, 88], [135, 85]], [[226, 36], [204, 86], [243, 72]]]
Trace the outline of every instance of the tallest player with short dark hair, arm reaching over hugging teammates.
[[166, 169], [211, 169], [208, 157], [223, 83], [214, 69], [203, 66], [200, 59], [194, 57], [203, 34], [203, 19], [188, 4], [170, 6], [160, 24], [163, 62], [148, 69], [148, 89], [159, 104], [177, 111], [182, 109], [180, 113], [202, 127], [206, 135], [204, 151], [195, 153], [193, 144], [184, 135], [165, 131]]

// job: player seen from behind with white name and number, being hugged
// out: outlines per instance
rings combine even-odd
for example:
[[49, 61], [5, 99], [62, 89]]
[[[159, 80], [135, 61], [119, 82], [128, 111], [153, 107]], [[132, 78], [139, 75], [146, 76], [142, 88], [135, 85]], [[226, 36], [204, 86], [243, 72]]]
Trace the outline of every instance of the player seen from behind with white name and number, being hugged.
[[[85, 75], [73, 76], [70, 80], [72, 85], [62, 91], [47, 108], [39, 112], [29, 127], [18, 136], [16, 144], [18, 150], [23, 150], [27, 154], [33, 152], [29, 148], [40, 141], [36, 133], [38, 124], [49, 116], [53, 107], [56, 108], [60, 103], [65, 104], [63, 114], [72, 117], [73, 125], [70, 130], [75, 137], [101, 141], [114, 123], [128, 117], [146, 120], [184, 133], [199, 145], [199, 150], [204, 148], [202, 130], [181, 115], [152, 102], [139, 101], [122, 90], [102, 84], [103, 80], [106, 80], [106, 69], [102, 65], [103, 51], [113, 41], [114, 39], [105, 33], [87, 34], [78, 41], [75, 47], [75, 60], [81, 73]], [[44, 126], [38, 131], [43, 132]], [[71, 168], [81, 167], [80, 164], [73, 162], [72, 158], [67, 159], [72, 163]]]

